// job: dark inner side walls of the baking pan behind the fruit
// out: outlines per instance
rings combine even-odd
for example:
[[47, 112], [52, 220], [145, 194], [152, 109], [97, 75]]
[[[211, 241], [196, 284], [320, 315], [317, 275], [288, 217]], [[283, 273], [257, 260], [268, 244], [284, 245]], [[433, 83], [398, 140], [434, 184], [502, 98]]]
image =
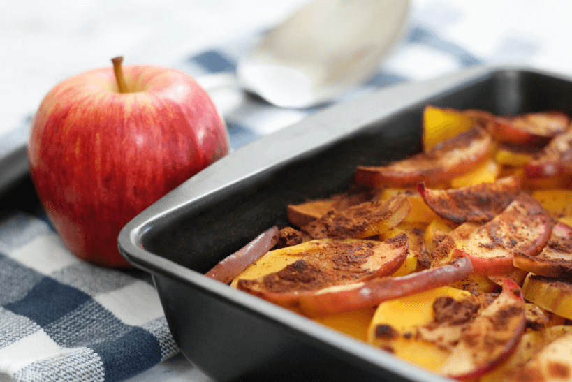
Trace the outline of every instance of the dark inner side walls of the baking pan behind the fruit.
[[141, 245], [179, 265], [207, 272], [263, 230], [288, 225], [288, 204], [345, 191], [353, 184], [355, 166], [377, 165], [418, 152], [427, 104], [499, 115], [550, 109], [570, 114], [572, 85], [531, 71], [485, 73], [373, 120], [342, 140], [235, 182], [200, 203], [173, 210], [140, 237]]

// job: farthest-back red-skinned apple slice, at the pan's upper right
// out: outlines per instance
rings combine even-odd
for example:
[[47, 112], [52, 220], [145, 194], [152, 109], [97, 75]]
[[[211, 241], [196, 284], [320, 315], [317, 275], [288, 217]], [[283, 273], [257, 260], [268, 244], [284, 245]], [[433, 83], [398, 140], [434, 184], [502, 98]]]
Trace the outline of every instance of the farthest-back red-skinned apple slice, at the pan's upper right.
[[496, 117], [487, 128], [499, 142], [543, 146], [564, 133], [569, 124], [570, 119], [563, 112], [533, 112], [516, 117]]

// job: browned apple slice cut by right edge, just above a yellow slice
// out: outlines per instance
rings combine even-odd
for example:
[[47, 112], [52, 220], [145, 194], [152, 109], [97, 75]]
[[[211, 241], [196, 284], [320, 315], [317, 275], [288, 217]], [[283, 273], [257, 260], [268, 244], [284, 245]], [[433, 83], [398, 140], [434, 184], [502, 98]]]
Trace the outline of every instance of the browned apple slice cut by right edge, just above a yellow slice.
[[538, 256], [516, 253], [515, 267], [545, 277], [572, 275], [572, 227], [559, 222], [552, 228], [550, 239]]

